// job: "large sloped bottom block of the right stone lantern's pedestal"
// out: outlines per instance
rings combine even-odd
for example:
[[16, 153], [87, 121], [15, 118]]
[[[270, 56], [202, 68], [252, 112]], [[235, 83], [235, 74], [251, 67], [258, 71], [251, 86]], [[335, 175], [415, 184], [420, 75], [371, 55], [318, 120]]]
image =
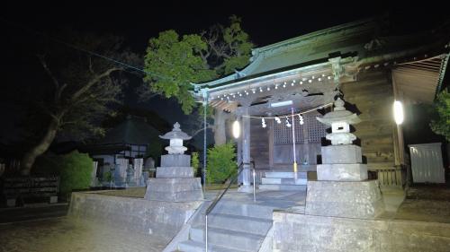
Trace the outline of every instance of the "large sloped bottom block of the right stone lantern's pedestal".
[[308, 181], [305, 214], [373, 219], [383, 212], [377, 180]]

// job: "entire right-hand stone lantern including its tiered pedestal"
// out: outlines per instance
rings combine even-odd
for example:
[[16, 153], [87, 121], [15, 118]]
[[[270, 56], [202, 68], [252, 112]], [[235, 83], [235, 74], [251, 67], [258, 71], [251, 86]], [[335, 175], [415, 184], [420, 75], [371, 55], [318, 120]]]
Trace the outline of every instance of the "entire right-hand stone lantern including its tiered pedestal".
[[305, 213], [320, 216], [372, 219], [383, 213], [383, 197], [377, 180], [367, 180], [361, 147], [353, 144], [356, 135], [350, 125], [361, 122], [344, 108], [338, 98], [335, 109], [317, 119], [331, 126], [326, 137], [331, 145], [322, 146], [322, 164], [317, 165], [318, 181], [308, 181]]

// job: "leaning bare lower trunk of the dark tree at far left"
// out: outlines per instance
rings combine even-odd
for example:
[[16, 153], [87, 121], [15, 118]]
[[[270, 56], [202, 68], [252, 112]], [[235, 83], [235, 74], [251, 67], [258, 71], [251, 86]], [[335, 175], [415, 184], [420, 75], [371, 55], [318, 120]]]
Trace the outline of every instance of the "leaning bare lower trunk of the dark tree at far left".
[[47, 152], [50, 144], [53, 142], [58, 132], [58, 126], [58, 121], [56, 119], [52, 119], [49, 123], [46, 134], [42, 136], [40, 142], [33, 146], [30, 151], [23, 154], [23, 158], [21, 160], [21, 174], [23, 176], [29, 176], [31, 167], [34, 164], [36, 158], [44, 152]]

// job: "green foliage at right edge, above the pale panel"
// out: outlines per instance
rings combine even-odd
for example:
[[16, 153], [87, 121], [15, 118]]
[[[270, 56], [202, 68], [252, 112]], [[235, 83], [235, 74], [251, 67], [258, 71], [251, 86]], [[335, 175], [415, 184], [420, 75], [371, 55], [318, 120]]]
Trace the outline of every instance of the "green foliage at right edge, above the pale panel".
[[450, 141], [450, 93], [442, 91], [437, 95], [434, 107], [437, 111], [437, 120], [431, 121], [431, 129], [438, 135], [444, 135]]

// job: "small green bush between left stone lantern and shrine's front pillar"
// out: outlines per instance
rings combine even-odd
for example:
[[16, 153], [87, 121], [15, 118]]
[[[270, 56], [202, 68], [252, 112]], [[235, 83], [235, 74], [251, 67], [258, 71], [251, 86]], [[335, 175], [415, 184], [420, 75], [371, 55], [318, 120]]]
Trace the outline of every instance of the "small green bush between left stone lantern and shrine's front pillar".
[[236, 153], [233, 143], [225, 143], [208, 149], [206, 179], [212, 183], [223, 183], [237, 173]]

